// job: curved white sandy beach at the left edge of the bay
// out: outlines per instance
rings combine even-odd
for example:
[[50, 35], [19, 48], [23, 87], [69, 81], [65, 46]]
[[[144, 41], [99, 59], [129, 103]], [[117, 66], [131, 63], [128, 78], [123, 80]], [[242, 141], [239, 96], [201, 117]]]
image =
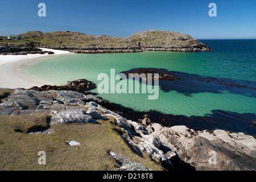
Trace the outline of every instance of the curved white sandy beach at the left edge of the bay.
[[71, 54], [69, 51], [41, 48], [43, 51], [52, 51], [54, 55], [0, 55], [0, 88], [31, 88], [32, 86], [42, 86], [47, 83], [32, 80], [19, 73], [19, 67], [30, 61], [43, 59], [44, 57]]

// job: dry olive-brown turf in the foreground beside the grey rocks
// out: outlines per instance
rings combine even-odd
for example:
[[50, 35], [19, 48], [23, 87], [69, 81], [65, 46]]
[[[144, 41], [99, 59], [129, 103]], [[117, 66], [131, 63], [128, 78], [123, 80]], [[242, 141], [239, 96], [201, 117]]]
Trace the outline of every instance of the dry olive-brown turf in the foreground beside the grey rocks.
[[[119, 127], [110, 123], [113, 118], [97, 121], [101, 125], [51, 124], [49, 127], [46, 114], [0, 116], [0, 170], [114, 170], [118, 166], [110, 151], [153, 170], [163, 170], [148, 157], [130, 150], [119, 134], [122, 133]], [[27, 134], [40, 127], [49, 127], [51, 133]], [[69, 146], [67, 141], [71, 140], [82, 145]], [[46, 152], [46, 165], [38, 164], [39, 151]]]

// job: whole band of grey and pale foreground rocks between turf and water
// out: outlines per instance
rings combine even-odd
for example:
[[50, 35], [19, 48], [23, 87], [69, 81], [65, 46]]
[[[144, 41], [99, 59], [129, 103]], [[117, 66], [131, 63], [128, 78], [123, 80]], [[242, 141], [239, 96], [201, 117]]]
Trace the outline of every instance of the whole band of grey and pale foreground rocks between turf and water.
[[[139, 122], [133, 121], [123, 117], [123, 113], [104, 99], [84, 92], [83, 88], [90, 87], [89, 81], [73, 81], [68, 85], [69, 90], [51, 90], [49, 86], [38, 89], [40, 91], [16, 89], [2, 100], [0, 115], [48, 113], [51, 125], [97, 123], [97, 119], [108, 122], [112, 118], [112, 124], [120, 128], [119, 135], [130, 150], [147, 155], [167, 170], [256, 169], [256, 139], [251, 135], [225, 130], [193, 130], [184, 125], [166, 127], [147, 115]], [[72, 90], [72, 85], [82, 93]], [[45, 130], [30, 133], [51, 133], [51, 127]], [[138, 166], [124, 163], [117, 170], [134, 165]]]

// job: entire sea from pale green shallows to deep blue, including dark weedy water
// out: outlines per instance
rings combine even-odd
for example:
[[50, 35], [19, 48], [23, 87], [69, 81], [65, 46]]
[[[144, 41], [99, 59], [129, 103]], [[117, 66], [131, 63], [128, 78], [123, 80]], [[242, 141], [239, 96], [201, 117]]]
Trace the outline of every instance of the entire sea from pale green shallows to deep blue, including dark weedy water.
[[[159, 90], [155, 100], [148, 100], [150, 94], [142, 92], [99, 93], [97, 88], [90, 92], [137, 111], [158, 111], [194, 118], [193, 121], [211, 118], [205, 119], [202, 129], [224, 129], [255, 137], [256, 39], [200, 41], [213, 51], [56, 55], [24, 64], [19, 69], [23, 75], [49, 85], [65, 85], [85, 78], [96, 86], [102, 82], [98, 79], [101, 73], [110, 79], [111, 69], [115, 74], [134, 68], [163, 69], [182, 79], [160, 81], [159, 86], [155, 85]], [[115, 80], [115, 84], [118, 82]], [[193, 121], [184, 125], [193, 128]], [[176, 124], [183, 125], [182, 119]]]

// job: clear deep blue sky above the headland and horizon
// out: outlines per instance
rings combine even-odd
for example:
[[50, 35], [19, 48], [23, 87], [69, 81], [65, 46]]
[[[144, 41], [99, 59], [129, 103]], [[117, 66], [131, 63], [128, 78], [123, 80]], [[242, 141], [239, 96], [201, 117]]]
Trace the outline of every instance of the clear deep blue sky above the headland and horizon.
[[[38, 16], [40, 2], [46, 4], [46, 17]], [[217, 17], [208, 15], [212, 2]], [[0, 35], [28, 30], [121, 37], [143, 30], [171, 30], [196, 39], [256, 38], [256, 1], [0, 0]]]

